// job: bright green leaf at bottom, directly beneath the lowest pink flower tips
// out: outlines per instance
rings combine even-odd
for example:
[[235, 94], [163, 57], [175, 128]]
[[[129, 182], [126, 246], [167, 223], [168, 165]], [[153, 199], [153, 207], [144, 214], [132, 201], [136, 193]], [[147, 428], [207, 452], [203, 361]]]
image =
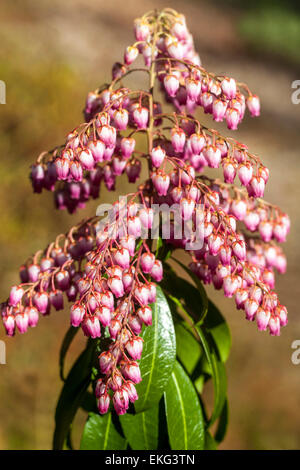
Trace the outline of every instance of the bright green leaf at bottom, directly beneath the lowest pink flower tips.
[[89, 413], [80, 442], [80, 450], [125, 450], [127, 442], [116, 429], [112, 413]]

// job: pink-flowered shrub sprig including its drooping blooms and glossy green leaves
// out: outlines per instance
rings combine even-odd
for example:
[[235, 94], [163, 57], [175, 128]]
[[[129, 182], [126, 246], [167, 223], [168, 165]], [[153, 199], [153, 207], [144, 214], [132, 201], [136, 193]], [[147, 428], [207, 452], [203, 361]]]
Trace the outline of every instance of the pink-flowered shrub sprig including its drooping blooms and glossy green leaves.
[[[56, 207], [73, 213], [99, 197], [101, 184], [113, 191], [124, 173], [130, 183], [142, 169], [148, 174], [113, 204], [109, 218], [99, 206], [100, 214], [32, 256], [2, 304], [2, 319], [13, 336], [71, 302], [54, 448], [71, 445], [79, 407], [89, 412], [81, 448], [215, 448], [226, 430], [230, 335], [202, 283], [234, 297], [259, 330], [279, 335], [287, 310], [273, 290], [274, 271], [286, 269], [278, 243], [290, 222], [263, 199], [269, 170], [260, 158], [195, 117], [201, 107], [236, 130], [247, 110], [259, 115], [259, 98], [246, 84], [203, 68], [174, 10], [144, 15], [134, 32], [110, 85], [88, 94], [86, 122], [40, 154], [31, 181], [35, 192], [52, 191]], [[143, 64], [135, 67], [139, 56]], [[147, 89], [126, 87], [133, 72], [145, 74]], [[204, 174], [209, 168], [222, 177]], [[188, 267], [175, 250], [189, 254]], [[65, 378], [64, 357], [80, 328], [87, 346]], [[210, 378], [209, 412], [199, 396]]]

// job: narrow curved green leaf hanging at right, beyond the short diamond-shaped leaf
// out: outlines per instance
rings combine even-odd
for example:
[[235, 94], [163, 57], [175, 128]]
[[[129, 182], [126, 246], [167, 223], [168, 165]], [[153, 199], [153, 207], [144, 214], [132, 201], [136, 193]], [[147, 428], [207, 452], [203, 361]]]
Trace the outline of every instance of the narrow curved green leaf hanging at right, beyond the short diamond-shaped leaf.
[[212, 371], [214, 384], [214, 409], [210, 418], [209, 425], [212, 425], [220, 416], [226, 400], [226, 372], [223, 362], [219, 358], [218, 351], [210, 333], [205, 332], [201, 327], [196, 327], [200, 340]]

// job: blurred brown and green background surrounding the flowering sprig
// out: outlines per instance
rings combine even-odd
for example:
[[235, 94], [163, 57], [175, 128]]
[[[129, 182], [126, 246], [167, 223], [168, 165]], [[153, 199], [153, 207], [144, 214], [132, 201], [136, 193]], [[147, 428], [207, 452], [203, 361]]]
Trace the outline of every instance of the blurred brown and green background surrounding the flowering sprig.
[[[55, 211], [50, 193], [32, 194], [29, 166], [81, 122], [87, 92], [110, 79], [112, 63], [131, 44], [133, 19], [166, 6], [186, 15], [208, 70], [246, 81], [260, 95], [262, 116], [247, 117], [238, 140], [270, 168], [266, 196], [292, 219], [288, 273], [277, 281], [289, 309], [280, 338], [258, 332], [231, 300], [208, 289], [233, 338], [227, 365], [230, 427], [222, 448], [297, 449], [300, 365], [291, 362], [291, 343], [300, 339], [300, 104], [291, 102], [291, 84], [300, 79], [296, 1], [1, 1], [0, 79], [7, 85], [7, 104], [0, 105], [0, 298], [7, 297], [30, 253], [95, 213], [93, 203], [74, 216]], [[210, 118], [204, 122], [212, 125]], [[118, 188], [125, 186], [126, 177]], [[102, 191], [102, 201], [111, 198]], [[1, 449], [51, 448], [61, 387], [58, 353], [68, 323], [67, 311], [59, 312], [14, 339], [6, 339], [1, 327], [7, 345], [7, 364], [0, 365]], [[69, 361], [82, 347], [79, 336]], [[77, 419], [80, 427], [84, 417]]]

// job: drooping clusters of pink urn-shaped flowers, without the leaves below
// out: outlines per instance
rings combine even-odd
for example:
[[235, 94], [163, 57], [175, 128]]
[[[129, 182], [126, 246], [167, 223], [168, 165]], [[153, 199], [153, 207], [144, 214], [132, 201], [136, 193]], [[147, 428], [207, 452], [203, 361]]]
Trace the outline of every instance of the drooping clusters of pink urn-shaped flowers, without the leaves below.
[[[10, 336], [35, 327], [51, 309], [63, 309], [65, 298], [72, 304], [71, 325], [91, 338], [105, 336], [109, 345], [99, 356], [95, 387], [100, 413], [112, 400], [123, 414], [138, 398], [139, 335], [151, 325], [149, 305], [163, 277], [150, 236], [153, 204], [178, 207], [179, 221], [172, 219], [165, 243], [191, 255], [190, 269], [199, 279], [234, 297], [259, 330], [279, 335], [287, 323], [274, 287], [275, 270], [286, 270], [280, 243], [290, 221], [263, 199], [269, 170], [246, 145], [194, 117], [201, 108], [235, 130], [247, 109], [259, 115], [259, 98], [247, 85], [201, 65], [184, 17], [173, 10], [143, 16], [134, 31], [136, 41], [125, 49], [124, 63], [113, 66], [111, 84], [88, 94], [86, 122], [64, 144], [39, 155], [31, 181], [35, 192], [52, 191], [56, 207], [72, 213], [99, 197], [102, 182], [115, 190], [117, 177], [126, 173], [136, 183], [143, 161], [148, 177], [126, 204], [114, 204], [113, 223], [99, 228], [98, 216], [84, 220], [30, 258], [20, 269], [21, 284], [2, 304]], [[139, 58], [142, 66], [134, 68]], [[148, 88], [124, 85], [136, 70], [148, 77]], [[173, 112], [163, 110], [156, 84]], [[138, 145], [138, 134], [146, 135], [147, 149]], [[220, 169], [220, 178], [210, 177], [209, 168]], [[190, 232], [178, 238], [182, 224]], [[199, 231], [202, 244], [196, 246]]]

